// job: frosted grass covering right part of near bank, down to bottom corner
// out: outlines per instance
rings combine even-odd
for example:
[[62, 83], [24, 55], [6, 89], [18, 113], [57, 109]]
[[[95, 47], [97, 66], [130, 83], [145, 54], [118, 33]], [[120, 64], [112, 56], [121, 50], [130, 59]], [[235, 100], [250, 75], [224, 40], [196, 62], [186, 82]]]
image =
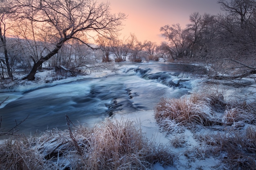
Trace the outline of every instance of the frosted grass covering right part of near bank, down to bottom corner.
[[189, 161], [218, 157], [224, 164], [222, 169], [256, 169], [254, 103], [225, 101], [220, 93], [192, 94], [188, 98], [162, 98], [154, 116], [162, 132], [172, 136], [174, 148], [185, 147], [185, 130], [194, 134], [198, 144], [183, 152]]

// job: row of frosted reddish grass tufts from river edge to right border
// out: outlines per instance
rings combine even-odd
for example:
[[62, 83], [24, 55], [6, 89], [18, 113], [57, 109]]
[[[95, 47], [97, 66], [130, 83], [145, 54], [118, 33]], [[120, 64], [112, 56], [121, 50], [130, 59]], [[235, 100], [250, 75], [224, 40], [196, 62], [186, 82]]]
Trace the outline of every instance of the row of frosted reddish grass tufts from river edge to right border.
[[166, 132], [176, 126], [222, 125], [240, 128], [244, 123], [256, 123], [256, 106], [226, 102], [221, 94], [192, 94], [190, 98], [162, 98], [155, 107], [155, 119]]

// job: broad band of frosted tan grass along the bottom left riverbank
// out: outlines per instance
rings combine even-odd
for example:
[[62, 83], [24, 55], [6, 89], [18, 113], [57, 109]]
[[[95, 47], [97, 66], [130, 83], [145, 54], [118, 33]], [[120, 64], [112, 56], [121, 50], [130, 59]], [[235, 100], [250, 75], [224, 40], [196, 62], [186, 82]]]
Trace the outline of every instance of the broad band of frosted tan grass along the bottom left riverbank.
[[146, 170], [157, 162], [173, 165], [176, 159], [169, 148], [146, 139], [131, 121], [106, 120], [72, 132], [55, 129], [0, 145], [3, 170]]

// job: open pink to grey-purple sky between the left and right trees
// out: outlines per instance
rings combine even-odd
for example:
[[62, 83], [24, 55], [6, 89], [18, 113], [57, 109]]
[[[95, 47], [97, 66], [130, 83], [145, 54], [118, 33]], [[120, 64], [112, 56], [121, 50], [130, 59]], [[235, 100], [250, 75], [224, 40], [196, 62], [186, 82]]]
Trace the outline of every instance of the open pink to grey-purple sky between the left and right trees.
[[144, 40], [160, 43], [164, 41], [159, 31], [161, 26], [179, 23], [182, 28], [189, 24], [189, 15], [220, 13], [218, 0], [98, 0], [109, 2], [112, 13], [125, 13], [121, 37], [134, 33], [141, 42]]

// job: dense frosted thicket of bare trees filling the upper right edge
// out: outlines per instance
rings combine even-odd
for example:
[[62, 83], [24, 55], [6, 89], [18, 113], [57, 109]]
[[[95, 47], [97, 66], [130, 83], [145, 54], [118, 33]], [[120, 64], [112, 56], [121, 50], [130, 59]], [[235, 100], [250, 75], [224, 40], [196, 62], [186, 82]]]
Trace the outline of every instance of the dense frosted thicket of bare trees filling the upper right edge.
[[237, 79], [255, 73], [255, 0], [218, 2], [225, 14], [220, 14], [216, 18], [218, 33], [212, 52], [208, 55], [213, 77]]

